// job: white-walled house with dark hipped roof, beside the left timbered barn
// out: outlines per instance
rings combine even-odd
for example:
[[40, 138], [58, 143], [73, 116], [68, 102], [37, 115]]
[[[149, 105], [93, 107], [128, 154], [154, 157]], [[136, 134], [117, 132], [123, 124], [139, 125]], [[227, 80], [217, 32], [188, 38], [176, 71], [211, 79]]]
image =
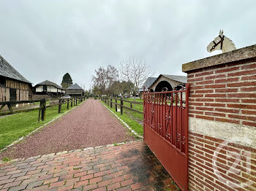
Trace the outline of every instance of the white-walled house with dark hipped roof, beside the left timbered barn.
[[59, 97], [66, 93], [64, 88], [48, 80], [35, 85], [34, 89], [37, 95], [50, 95], [52, 97]]

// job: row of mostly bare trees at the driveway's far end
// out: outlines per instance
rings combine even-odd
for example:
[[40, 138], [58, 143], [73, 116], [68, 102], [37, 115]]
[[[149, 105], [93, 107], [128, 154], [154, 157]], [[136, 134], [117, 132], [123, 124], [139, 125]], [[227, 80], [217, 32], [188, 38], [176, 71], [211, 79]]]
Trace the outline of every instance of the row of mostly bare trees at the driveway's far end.
[[135, 95], [151, 74], [146, 61], [129, 58], [121, 61], [118, 69], [108, 65], [95, 70], [92, 78], [94, 95]]

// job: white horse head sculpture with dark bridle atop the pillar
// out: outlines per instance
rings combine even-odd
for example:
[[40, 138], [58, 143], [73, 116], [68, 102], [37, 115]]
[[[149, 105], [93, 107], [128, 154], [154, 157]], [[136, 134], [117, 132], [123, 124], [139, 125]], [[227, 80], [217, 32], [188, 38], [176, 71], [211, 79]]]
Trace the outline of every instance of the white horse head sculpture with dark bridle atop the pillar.
[[222, 53], [236, 50], [236, 46], [232, 40], [224, 36], [223, 30], [219, 30], [219, 36], [217, 36], [210, 44], [207, 46], [207, 51], [212, 52], [214, 50], [222, 50]]

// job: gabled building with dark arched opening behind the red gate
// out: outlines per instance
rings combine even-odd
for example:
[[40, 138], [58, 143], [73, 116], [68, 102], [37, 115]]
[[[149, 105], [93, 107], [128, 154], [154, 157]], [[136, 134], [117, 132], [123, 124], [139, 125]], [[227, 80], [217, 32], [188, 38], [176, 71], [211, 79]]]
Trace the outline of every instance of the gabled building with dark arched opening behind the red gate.
[[187, 84], [186, 76], [160, 74], [157, 79], [148, 87], [151, 92], [162, 92], [162, 90], [179, 90]]

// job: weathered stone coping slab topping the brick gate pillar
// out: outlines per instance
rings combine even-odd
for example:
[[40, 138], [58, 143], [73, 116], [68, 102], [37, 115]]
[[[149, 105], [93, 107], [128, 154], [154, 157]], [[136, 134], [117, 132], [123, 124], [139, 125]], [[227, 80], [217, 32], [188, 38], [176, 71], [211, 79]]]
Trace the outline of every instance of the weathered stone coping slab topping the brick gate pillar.
[[195, 69], [203, 69], [210, 66], [217, 66], [234, 61], [242, 61], [249, 58], [256, 58], [256, 44], [230, 52], [225, 52], [223, 54], [214, 55], [208, 58], [203, 58], [197, 61], [184, 63], [182, 65], [182, 71], [188, 72]]

